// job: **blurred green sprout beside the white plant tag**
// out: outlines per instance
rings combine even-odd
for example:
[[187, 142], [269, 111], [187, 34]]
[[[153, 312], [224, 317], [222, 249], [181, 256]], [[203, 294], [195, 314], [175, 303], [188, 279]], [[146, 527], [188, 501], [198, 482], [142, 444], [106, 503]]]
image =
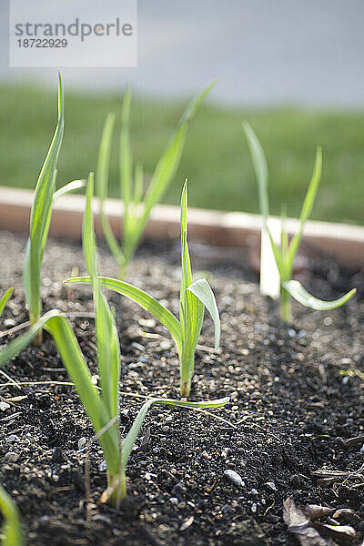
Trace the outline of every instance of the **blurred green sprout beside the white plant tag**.
[[[321, 177], [322, 167], [322, 152], [321, 148], [317, 148], [315, 167], [311, 181], [308, 186], [306, 197], [303, 202], [301, 214], [299, 217], [299, 228], [291, 240], [288, 242], [288, 233], [285, 227], [284, 218], [282, 219], [282, 236], [280, 246], [274, 241], [272, 233], [268, 227], [269, 218], [269, 200], [268, 200], [268, 166], [263, 148], [258, 141], [258, 137], [254, 133], [247, 121], [243, 122], [243, 129], [248, 140], [248, 147], [253, 161], [254, 170], [258, 181], [259, 192], [259, 207], [260, 213], [264, 219], [264, 227], [268, 232], [268, 238], [272, 248], [274, 258], [276, 260], [279, 278], [280, 278], [280, 303], [281, 316], [284, 322], [290, 322], [291, 303], [290, 296], [297, 299], [299, 303], [305, 307], [319, 310], [330, 310], [338, 308], [346, 303], [356, 293], [356, 288], [350, 290], [342, 298], [332, 301], [323, 301], [308, 294], [307, 290], [302, 287], [298, 280], [292, 280], [293, 262], [298, 251], [299, 243], [302, 238], [303, 228], [311, 213], [315, 197], [319, 188], [319, 180]], [[263, 263], [263, 260], [262, 260]]]

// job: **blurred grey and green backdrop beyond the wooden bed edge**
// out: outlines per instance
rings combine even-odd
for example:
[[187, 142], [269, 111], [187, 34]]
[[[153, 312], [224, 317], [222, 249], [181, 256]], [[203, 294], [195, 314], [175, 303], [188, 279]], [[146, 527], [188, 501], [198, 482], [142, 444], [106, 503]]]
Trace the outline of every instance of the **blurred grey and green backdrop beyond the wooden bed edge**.
[[[9, 7], [0, 5], [0, 184], [33, 188], [56, 126], [56, 69], [9, 68]], [[321, 145], [312, 217], [364, 224], [363, 28], [362, 0], [139, 0], [136, 68], [62, 70], [58, 185], [96, 168], [106, 115], [119, 115], [127, 83], [134, 155], [151, 174], [187, 101], [218, 77], [164, 202], [178, 203], [188, 177], [192, 206], [258, 212], [241, 131], [248, 119], [268, 157], [272, 214], [287, 203], [288, 216], [298, 216]]]

